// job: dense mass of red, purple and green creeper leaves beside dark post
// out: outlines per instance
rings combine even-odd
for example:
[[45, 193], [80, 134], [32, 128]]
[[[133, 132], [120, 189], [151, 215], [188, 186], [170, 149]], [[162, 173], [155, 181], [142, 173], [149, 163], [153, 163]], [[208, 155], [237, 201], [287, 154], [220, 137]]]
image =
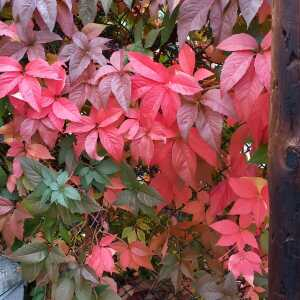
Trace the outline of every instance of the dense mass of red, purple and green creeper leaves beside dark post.
[[269, 1], [0, 9], [1, 251], [30, 299], [265, 299]]

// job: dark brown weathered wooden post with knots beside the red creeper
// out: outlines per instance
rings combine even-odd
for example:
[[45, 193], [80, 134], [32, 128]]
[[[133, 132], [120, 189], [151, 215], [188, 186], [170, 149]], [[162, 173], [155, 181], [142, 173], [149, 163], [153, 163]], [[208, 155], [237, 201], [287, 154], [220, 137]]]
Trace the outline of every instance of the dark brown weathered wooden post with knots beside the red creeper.
[[269, 300], [300, 299], [300, 0], [273, 0]]

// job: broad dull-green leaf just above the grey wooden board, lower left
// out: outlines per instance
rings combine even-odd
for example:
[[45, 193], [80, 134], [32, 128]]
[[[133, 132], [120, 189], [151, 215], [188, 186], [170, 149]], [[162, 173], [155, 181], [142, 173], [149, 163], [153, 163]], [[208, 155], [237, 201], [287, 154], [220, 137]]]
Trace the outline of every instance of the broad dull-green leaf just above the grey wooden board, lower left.
[[47, 245], [41, 242], [33, 242], [17, 249], [13, 252], [11, 258], [21, 263], [35, 264], [42, 262], [47, 256]]

